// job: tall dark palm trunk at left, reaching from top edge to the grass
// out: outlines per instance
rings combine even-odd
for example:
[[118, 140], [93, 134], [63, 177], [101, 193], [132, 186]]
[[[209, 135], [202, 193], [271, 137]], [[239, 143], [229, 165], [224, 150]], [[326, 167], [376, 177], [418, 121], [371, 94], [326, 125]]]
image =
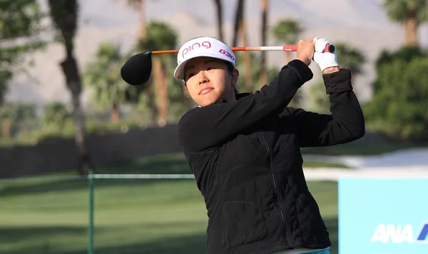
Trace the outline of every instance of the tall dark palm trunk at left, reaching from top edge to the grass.
[[79, 173], [84, 174], [88, 172], [84, 172], [83, 168], [90, 165], [91, 162], [86, 151], [85, 119], [80, 101], [82, 91], [81, 75], [76, 59], [74, 58], [74, 37], [76, 36], [78, 25], [78, 1], [49, 0], [49, 13], [61, 34], [61, 41], [66, 49], [66, 59], [61, 62], [61, 68], [73, 101], [75, 140], [79, 158], [78, 170]]

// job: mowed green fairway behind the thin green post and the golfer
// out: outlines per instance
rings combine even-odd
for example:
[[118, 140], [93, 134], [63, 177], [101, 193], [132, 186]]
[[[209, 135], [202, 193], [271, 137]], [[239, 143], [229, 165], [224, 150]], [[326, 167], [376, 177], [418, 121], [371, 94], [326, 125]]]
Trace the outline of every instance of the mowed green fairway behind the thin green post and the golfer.
[[[101, 168], [113, 172], [190, 170], [180, 156], [156, 156]], [[309, 186], [337, 253], [337, 183]], [[95, 200], [95, 253], [205, 253], [208, 220], [193, 179], [99, 179]], [[0, 253], [87, 253], [86, 180], [1, 183], [0, 204]]]

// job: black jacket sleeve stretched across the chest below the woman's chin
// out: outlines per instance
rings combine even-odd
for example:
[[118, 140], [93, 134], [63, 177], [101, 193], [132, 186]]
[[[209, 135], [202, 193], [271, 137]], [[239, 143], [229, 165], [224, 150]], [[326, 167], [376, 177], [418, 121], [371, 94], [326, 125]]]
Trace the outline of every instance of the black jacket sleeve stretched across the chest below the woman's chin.
[[282, 67], [269, 83], [232, 103], [193, 108], [178, 123], [178, 142], [185, 151], [198, 152], [220, 146], [278, 108], [284, 108], [312, 71], [302, 61]]

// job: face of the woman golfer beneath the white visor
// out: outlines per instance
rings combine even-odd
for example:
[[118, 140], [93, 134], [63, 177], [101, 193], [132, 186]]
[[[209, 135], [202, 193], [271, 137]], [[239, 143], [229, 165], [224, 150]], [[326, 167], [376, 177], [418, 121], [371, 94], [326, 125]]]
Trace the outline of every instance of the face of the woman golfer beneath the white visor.
[[190, 97], [199, 106], [208, 106], [220, 99], [235, 101], [234, 86], [239, 73], [229, 71], [225, 61], [205, 56], [190, 59], [184, 75]]

